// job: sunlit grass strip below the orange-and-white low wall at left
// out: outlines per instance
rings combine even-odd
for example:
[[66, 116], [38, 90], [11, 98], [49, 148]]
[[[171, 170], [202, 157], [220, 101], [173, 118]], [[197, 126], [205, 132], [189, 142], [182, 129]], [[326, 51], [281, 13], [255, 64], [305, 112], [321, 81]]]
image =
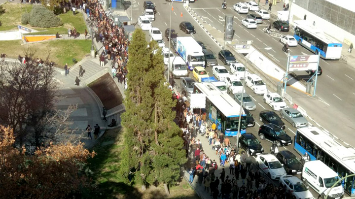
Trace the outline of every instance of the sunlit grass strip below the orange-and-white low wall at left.
[[82, 60], [85, 55], [90, 54], [91, 40], [55, 40], [40, 43], [21, 45], [22, 40], [1, 41], [0, 52], [6, 53], [11, 58], [24, 55], [25, 49], [36, 50], [35, 56], [45, 59], [50, 49], [50, 60], [57, 63], [61, 68], [66, 63], [70, 66], [72, 59]]

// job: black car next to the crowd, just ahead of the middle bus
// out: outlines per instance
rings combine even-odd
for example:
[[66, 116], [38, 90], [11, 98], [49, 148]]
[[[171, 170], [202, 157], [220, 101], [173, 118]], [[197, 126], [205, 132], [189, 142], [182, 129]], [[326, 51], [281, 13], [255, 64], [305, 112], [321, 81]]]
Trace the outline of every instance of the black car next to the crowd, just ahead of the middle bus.
[[252, 133], [244, 133], [240, 136], [239, 147], [246, 150], [251, 156], [264, 153], [264, 148]]

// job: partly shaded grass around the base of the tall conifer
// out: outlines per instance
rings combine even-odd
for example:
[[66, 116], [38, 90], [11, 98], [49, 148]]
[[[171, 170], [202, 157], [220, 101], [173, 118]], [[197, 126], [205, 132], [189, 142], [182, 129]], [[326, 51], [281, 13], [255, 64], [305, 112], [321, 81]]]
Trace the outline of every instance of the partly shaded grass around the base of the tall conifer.
[[[113, 144], [102, 146], [106, 141], [114, 140]], [[84, 192], [88, 199], [199, 199], [184, 180], [178, 186], [170, 188], [171, 196], [165, 195], [162, 186], [151, 186], [145, 192], [138, 185], [128, 185], [118, 175], [120, 169], [120, 154], [124, 149], [122, 131], [112, 129], [106, 131], [93, 150], [97, 155], [89, 159], [89, 168], [93, 174], [93, 189]]]

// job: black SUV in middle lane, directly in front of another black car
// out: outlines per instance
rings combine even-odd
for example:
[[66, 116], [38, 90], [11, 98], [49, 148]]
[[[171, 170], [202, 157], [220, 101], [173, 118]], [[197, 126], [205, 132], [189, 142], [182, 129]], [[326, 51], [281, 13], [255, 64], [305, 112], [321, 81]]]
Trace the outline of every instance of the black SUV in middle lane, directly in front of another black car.
[[292, 144], [292, 138], [287, 135], [279, 126], [274, 124], [261, 125], [258, 134], [260, 139], [266, 139], [270, 142], [276, 141], [276, 145], [278, 147]]

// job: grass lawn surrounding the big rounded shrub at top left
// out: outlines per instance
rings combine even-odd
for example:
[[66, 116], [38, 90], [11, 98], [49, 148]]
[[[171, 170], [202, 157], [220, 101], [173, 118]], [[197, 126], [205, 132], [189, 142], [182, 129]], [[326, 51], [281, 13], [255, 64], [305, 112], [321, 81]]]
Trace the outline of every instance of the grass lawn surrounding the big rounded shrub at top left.
[[[9, 30], [16, 30], [17, 25], [21, 25], [21, 16], [23, 13], [30, 12], [32, 10], [33, 5], [29, 4], [19, 4], [19, 3], [9, 3], [6, 2], [3, 5], [5, 9], [5, 13], [0, 15], [0, 31], [9, 31]], [[21, 9], [22, 6], [22, 9]], [[37, 31], [41, 31], [40, 33], [28, 33], [28, 34], [67, 34], [68, 28], [76, 28], [77, 32], [83, 34], [86, 29], [86, 25], [83, 19], [83, 16], [80, 12], [76, 11], [76, 14], [73, 15], [72, 11], [68, 11], [65, 14], [60, 14], [58, 17], [61, 19], [63, 23], [60, 27], [54, 28], [36, 28], [31, 27], [29, 24], [24, 25], [29, 28], [33, 28]]]

